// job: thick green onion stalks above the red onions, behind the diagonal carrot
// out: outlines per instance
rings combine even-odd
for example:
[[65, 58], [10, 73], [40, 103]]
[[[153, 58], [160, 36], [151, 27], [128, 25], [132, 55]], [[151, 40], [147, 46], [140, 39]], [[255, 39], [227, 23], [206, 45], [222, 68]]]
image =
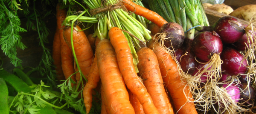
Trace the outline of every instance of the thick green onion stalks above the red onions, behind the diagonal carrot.
[[178, 23], [184, 31], [188, 30], [187, 18], [192, 27], [209, 26], [201, 0], [149, 0], [148, 5], [166, 21]]

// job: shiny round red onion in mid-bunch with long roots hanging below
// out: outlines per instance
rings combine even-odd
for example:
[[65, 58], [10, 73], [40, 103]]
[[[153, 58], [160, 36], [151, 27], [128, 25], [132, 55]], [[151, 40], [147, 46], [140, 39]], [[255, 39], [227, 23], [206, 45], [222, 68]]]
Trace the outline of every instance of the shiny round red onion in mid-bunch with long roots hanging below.
[[213, 54], [221, 53], [223, 48], [218, 34], [204, 31], [197, 34], [192, 42], [192, 51], [201, 60], [209, 61]]

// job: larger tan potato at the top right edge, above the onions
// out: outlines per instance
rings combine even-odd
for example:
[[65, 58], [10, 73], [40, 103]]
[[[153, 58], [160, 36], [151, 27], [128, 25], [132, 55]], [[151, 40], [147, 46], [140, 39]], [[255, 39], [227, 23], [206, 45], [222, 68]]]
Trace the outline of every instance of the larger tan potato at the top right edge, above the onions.
[[229, 15], [250, 21], [251, 18], [252, 20], [256, 19], [256, 4], [251, 4], [251, 5], [246, 5], [239, 7], [238, 9], [234, 10], [231, 12]]

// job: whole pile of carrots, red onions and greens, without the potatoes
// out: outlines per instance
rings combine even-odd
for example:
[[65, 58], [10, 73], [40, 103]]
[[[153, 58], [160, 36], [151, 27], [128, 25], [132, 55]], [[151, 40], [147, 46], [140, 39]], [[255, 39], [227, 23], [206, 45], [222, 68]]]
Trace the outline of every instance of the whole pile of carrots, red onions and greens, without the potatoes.
[[[12, 74], [0, 66], [3, 114], [256, 113], [253, 21], [226, 16], [210, 26], [201, 0], [51, 1], [57, 26], [49, 51], [47, 14], [24, 1], [22, 9], [15, 0], [13, 11], [1, 7], [0, 30], [11, 36], [1, 32], [0, 44], [20, 66]], [[8, 44], [13, 37], [25, 48], [17, 11], [27, 7], [44, 50], [36, 68], [21, 66]]]

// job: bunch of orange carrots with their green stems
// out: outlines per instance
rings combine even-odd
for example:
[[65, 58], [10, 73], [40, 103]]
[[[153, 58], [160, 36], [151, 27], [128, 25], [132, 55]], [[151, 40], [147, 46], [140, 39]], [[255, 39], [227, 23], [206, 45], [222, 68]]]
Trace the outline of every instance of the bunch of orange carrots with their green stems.
[[[154, 11], [130, 0], [122, 1], [128, 11], [158, 26], [167, 23]], [[90, 0], [84, 2], [90, 3]], [[81, 92], [78, 97], [84, 101], [87, 114], [95, 100], [95, 91], [101, 95], [101, 114], [197, 114], [194, 103], [189, 102], [193, 101], [192, 94], [186, 82], [180, 80], [175, 60], [152, 37], [137, 38], [140, 35], [136, 31], [121, 29], [116, 25], [125, 23], [114, 22], [115, 17], [110, 16], [116, 13], [116, 17], [122, 18], [126, 12], [121, 14], [118, 11], [122, 9], [116, 9], [116, 12], [85, 17], [85, 9], [78, 16], [67, 16], [67, 11], [60, 6], [58, 3], [56, 8], [52, 55], [57, 79], [67, 80], [65, 83], [74, 93]], [[133, 21], [133, 17], [129, 20]], [[98, 26], [94, 33], [86, 36], [77, 21]], [[143, 36], [150, 33], [140, 26], [137, 29], [142, 30]], [[135, 55], [137, 62], [134, 62]]]

